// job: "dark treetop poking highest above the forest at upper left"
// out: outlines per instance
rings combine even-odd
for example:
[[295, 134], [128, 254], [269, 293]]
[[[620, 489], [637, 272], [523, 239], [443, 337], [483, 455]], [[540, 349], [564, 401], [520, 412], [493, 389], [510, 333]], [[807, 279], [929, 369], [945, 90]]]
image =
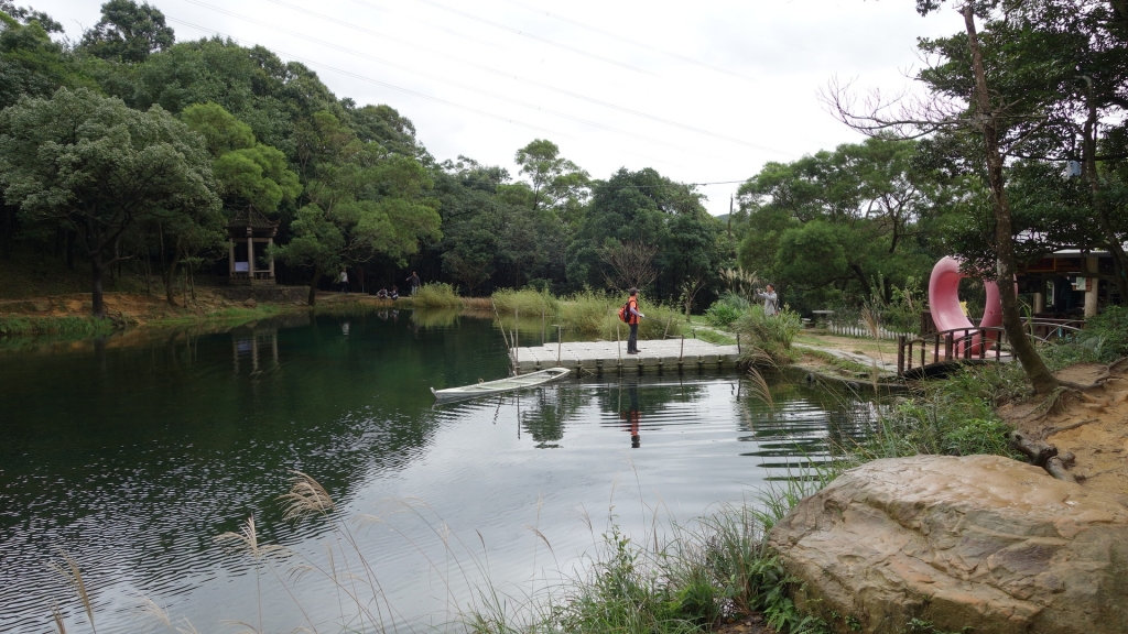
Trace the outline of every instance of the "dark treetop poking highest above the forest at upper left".
[[148, 2], [109, 0], [102, 6], [102, 19], [82, 34], [81, 46], [96, 58], [143, 62], [152, 53], [176, 42], [165, 14]]

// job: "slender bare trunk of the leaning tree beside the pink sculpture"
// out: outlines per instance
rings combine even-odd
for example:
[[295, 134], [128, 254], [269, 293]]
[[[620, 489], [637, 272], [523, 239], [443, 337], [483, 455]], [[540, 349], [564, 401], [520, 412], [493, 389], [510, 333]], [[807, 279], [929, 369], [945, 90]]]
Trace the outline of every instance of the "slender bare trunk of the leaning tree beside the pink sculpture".
[[1022, 327], [1019, 297], [1014, 291], [1014, 237], [1012, 235], [1011, 205], [1006, 199], [1006, 183], [1003, 178], [1003, 156], [998, 150], [998, 120], [990, 107], [987, 73], [984, 70], [982, 51], [979, 49], [975, 12], [970, 3], [963, 8], [963, 24], [968, 30], [968, 45], [971, 49], [971, 65], [976, 78], [972, 104], [975, 104], [976, 117], [982, 126], [984, 144], [987, 149], [987, 180], [990, 185], [992, 204], [995, 208], [995, 265], [998, 274], [998, 297], [1003, 303], [1003, 328], [1006, 331], [1006, 338], [1011, 341], [1014, 355], [1022, 363], [1022, 369], [1026, 372], [1026, 378], [1033, 385], [1034, 391], [1046, 394], [1052, 391], [1061, 382], [1050, 373], [1030, 337], [1026, 336], [1026, 331]]

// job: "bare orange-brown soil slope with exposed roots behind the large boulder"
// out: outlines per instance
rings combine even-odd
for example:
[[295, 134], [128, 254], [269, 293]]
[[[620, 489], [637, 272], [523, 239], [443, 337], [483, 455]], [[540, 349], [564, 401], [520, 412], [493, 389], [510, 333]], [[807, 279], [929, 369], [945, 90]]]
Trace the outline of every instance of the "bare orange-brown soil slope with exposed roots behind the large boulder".
[[1081, 385], [1104, 379], [1081, 396], [1031, 400], [999, 408], [999, 415], [1032, 439], [1072, 451], [1070, 472], [1086, 488], [1128, 499], [1128, 360], [1111, 366], [1079, 363], [1058, 377]]

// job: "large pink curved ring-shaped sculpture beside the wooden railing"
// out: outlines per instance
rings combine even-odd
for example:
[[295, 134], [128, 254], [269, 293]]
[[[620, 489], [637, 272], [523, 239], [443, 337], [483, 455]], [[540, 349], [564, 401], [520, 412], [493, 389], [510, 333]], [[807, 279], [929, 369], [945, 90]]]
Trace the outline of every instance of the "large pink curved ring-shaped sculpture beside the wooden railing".
[[[928, 303], [932, 306], [932, 320], [936, 324], [936, 329], [958, 331], [967, 328], [970, 334], [976, 326], [971, 324], [963, 309], [960, 308], [960, 280], [966, 275], [960, 272], [960, 261], [954, 257], [943, 257], [932, 268], [932, 278], [928, 279]], [[998, 299], [998, 285], [995, 282], [984, 280], [987, 290], [987, 303], [984, 310], [984, 318], [979, 327], [989, 328], [1003, 324], [1003, 305]], [[994, 343], [988, 337], [978, 333], [967, 338], [966, 334], [954, 333], [958, 337], [955, 353], [958, 356], [964, 354], [978, 355], [981, 351], [989, 350]]]

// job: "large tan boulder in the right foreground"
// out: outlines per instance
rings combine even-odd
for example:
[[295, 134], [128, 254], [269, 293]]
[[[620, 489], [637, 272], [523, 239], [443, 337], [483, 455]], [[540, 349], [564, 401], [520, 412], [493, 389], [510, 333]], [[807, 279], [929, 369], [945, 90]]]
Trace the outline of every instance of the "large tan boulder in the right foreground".
[[870, 463], [768, 540], [804, 582], [796, 602], [840, 631], [916, 617], [951, 632], [1128, 632], [1128, 507], [1007, 458]]

